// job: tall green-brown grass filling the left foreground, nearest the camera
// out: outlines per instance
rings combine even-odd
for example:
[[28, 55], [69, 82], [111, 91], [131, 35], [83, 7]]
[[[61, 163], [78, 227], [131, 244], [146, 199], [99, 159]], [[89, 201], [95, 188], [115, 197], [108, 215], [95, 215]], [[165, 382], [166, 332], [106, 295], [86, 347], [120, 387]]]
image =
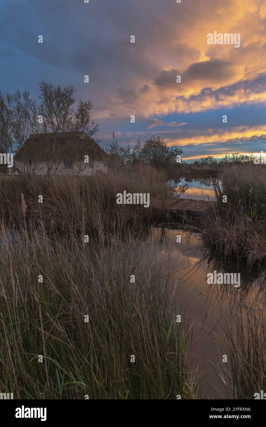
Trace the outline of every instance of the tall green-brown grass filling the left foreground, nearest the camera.
[[2, 228], [1, 392], [20, 399], [196, 397], [170, 271], [150, 243], [129, 232], [123, 239], [105, 234], [100, 221], [98, 240], [86, 244], [74, 234], [51, 238], [31, 222], [13, 241]]

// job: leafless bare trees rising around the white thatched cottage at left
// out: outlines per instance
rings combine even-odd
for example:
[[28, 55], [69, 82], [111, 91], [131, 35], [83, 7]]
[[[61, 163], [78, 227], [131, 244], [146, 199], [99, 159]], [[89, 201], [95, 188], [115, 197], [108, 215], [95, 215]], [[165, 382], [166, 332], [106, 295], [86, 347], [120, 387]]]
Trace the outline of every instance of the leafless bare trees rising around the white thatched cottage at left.
[[[42, 81], [37, 98], [30, 97], [27, 90], [13, 95], [0, 93], [0, 146], [6, 152], [17, 152], [30, 135], [35, 135], [47, 174], [52, 170], [56, 173], [60, 160], [70, 152], [76, 132], [92, 137], [99, 131], [91, 117], [92, 107], [89, 100], [79, 99], [76, 104], [72, 85], [61, 88]], [[24, 175], [34, 168], [32, 165], [29, 169], [25, 156], [22, 164], [15, 164], [14, 169]]]

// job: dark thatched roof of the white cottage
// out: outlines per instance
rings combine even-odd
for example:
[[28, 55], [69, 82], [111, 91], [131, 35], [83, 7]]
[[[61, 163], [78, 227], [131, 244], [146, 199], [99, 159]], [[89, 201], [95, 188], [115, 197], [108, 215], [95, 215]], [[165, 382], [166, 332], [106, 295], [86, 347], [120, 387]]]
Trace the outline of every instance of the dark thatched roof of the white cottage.
[[85, 132], [64, 132], [31, 135], [15, 155], [17, 161], [84, 161], [103, 160], [105, 151]]

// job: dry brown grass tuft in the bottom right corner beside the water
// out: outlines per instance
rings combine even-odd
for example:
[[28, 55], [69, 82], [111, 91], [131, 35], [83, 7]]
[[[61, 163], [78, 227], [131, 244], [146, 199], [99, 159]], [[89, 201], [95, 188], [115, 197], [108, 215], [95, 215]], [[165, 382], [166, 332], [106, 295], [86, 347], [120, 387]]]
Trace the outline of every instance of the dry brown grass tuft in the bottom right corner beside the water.
[[227, 297], [230, 310], [220, 309], [217, 319], [220, 354], [227, 355], [227, 363], [219, 366], [220, 377], [228, 398], [254, 399], [254, 393], [266, 390], [265, 290], [260, 293], [255, 287], [248, 295], [232, 292]]

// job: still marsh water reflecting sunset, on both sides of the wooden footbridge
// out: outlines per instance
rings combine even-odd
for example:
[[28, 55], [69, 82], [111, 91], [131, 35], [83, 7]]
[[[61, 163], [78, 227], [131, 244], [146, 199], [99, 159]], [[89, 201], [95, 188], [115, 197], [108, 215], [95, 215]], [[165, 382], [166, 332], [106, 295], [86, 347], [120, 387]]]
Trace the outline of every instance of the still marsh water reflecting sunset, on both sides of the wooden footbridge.
[[[221, 181], [219, 181], [222, 187]], [[181, 177], [177, 185], [188, 184], [181, 196], [187, 199], [212, 199], [211, 178]], [[180, 235], [181, 242], [177, 243]], [[200, 233], [180, 229], [173, 224], [154, 228], [158, 263], [170, 263], [175, 284], [175, 304], [189, 329], [187, 351], [191, 372], [203, 399], [232, 398], [232, 349], [238, 351], [246, 340], [247, 319], [262, 319], [265, 310], [265, 272], [248, 269], [246, 264], [225, 263], [222, 257], [206, 254]], [[240, 273], [240, 287], [234, 284], [208, 284], [207, 274], [214, 271]], [[256, 323], [256, 320], [255, 320]], [[240, 358], [241, 363], [241, 351]], [[253, 350], [252, 350], [253, 351]], [[224, 356], [227, 356], [227, 362]], [[235, 361], [234, 361], [235, 362]], [[251, 390], [251, 396], [253, 396]], [[252, 397], [251, 397], [252, 398]]]

